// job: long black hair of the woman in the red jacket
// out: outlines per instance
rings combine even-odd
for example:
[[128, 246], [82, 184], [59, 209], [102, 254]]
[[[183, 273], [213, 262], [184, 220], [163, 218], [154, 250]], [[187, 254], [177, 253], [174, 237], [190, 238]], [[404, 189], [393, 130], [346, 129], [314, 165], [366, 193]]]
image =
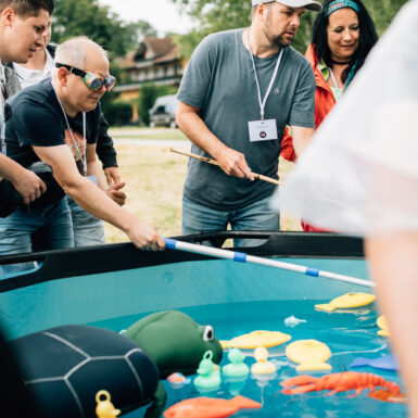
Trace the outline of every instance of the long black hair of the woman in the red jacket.
[[[314, 23], [313, 28], [313, 39], [312, 43], [314, 45], [315, 54], [319, 61], [324, 60], [324, 62], [328, 65], [332, 65], [331, 60], [331, 51], [328, 47], [328, 35], [327, 27], [329, 22], [329, 16], [327, 16], [328, 5], [332, 3], [333, 0], [325, 0], [322, 3], [322, 12], [318, 13]], [[359, 40], [358, 47], [354, 52], [352, 59], [350, 60], [349, 67], [344, 69], [342, 74], [343, 83], [346, 81], [354, 65], [354, 75], [357, 74], [358, 69], [362, 68], [363, 64], [366, 61], [368, 53], [371, 48], [378, 41], [378, 35], [376, 33], [375, 23], [371, 20], [367, 9], [363, 4], [362, 0], [352, 0], [358, 7], [358, 26], [359, 26]], [[354, 9], [353, 9], [354, 10]]]

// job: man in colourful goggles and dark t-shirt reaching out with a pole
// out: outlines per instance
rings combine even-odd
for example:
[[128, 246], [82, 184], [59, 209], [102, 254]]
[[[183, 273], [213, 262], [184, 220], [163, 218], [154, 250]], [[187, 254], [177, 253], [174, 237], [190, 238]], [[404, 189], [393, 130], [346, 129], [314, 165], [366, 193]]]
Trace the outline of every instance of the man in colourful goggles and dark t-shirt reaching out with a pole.
[[[136, 246], [163, 249], [164, 241], [154, 228], [137, 220], [104, 192], [107, 186], [96, 160], [99, 101], [115, 84], [105, 51], [88, 38], [74, 38], [58, 47], [55, 62], [52, 80], [45, 79], [10, 99], [5, 129], [10, 157], [24, 166], [42, 161], [52, 167], [49, 189], [54, 195], [46, 193], [41, 207], [0, 219], [0, 232], [4, 231], [0, 253], [60, 248], [68, 232], [59, 206], [64, 192], [87, 212], [123, 230]], [[87, 176], [96, 176], [99, 187]], [[41, 239], [34, 241], [40, 232]]]

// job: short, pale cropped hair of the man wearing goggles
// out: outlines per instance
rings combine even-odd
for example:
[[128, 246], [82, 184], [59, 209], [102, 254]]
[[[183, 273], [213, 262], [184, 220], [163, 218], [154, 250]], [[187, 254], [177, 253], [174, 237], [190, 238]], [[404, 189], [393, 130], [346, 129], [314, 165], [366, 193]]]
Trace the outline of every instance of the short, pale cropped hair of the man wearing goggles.
[[87, 36], [71, 38], [56, 47], [55, 62], [76, 68], [84, 68], [89, 48], [94, 48], [109, 59], [107, 52]]

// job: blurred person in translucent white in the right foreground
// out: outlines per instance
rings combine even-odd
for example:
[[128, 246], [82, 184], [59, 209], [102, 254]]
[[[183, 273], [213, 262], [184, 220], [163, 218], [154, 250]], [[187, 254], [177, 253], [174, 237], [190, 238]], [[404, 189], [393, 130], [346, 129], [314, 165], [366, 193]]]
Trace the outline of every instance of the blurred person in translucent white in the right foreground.
[[418, 418], [418, 1], [395, 17], [274, 204], [366, 238], [391, 343]]

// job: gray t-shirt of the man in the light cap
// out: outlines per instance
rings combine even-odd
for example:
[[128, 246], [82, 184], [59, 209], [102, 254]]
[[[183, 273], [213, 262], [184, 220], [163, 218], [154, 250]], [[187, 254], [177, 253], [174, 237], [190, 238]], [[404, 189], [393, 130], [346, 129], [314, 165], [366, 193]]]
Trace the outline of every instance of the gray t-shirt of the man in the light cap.
[[[279, 140], [250, 142], [250, 121], [259, 121], [261, 110], [254, 69], [242, 42], [243, 29], [207, 36], [195, 49], [178, 100], [200, 109], [208, 129], [227, 147], [245, 155], [254, 173], [278, 178], [280, 143], [286, 125], [314, 128], [315, 77], [311, 64], [293, 48], [286, 48], [265, 107], [265, 118], [275, 118]], [[279, 53], [254, 56], [264, 98]], [[211, 157], [200, 148], [192, 152]], [[275, 186], [265, 181], [228, 176], [219, 167], [191, 159], [183, 194], [192, 202], [221, 211], [237, 210], [268, 198]]]

